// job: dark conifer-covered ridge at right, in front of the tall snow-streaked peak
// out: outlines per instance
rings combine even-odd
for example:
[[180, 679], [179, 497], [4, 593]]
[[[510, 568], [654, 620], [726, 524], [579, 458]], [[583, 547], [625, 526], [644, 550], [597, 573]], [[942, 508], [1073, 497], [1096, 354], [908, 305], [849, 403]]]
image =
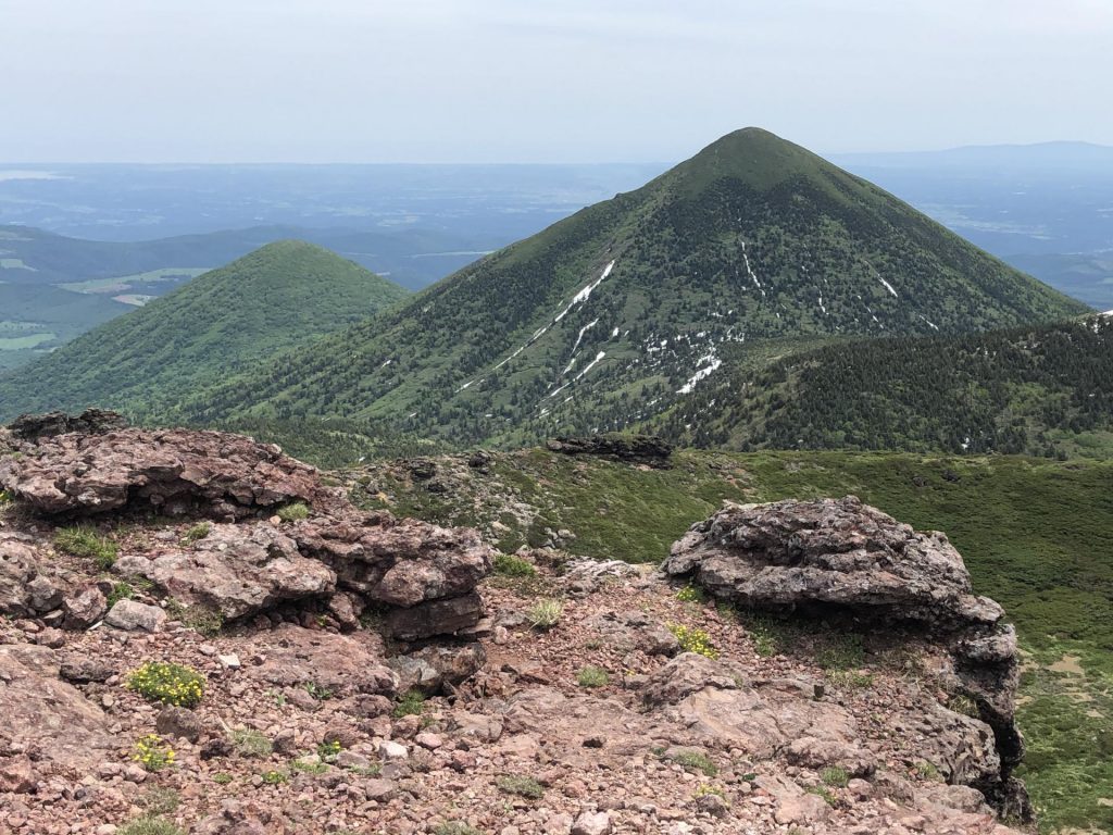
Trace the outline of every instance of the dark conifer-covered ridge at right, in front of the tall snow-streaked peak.
[[733, 450], [1113, 458], [1113, 317], [847, 340], [731, 372], [653, 422]]

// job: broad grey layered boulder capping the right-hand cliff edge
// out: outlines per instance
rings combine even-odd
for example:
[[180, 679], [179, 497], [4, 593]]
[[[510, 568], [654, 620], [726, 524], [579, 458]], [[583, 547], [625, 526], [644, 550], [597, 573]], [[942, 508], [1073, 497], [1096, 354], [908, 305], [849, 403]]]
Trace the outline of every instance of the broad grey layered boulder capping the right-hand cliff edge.
[[847, 607], [953, 631], [1004, 615], [976, 597], [944, 533], [917, 533], [850, 495], [728, 504], [673, 544], [669, 574], [756, 608]]

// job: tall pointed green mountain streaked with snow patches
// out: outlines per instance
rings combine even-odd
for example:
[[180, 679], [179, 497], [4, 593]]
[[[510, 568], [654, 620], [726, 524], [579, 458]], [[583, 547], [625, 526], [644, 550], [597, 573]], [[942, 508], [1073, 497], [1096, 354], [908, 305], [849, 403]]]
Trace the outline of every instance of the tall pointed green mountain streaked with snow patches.
[[509, 442], [628, 425], [739, 346], [1083, 311], [869, 183], [748, 128], [178, 416], [343, 415]]

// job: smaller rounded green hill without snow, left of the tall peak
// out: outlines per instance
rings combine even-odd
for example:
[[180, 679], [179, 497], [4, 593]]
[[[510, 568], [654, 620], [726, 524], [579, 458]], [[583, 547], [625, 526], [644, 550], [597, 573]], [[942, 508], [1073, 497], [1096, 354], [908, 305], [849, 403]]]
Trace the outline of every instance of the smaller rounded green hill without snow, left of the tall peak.
[[313, 244], [268, 244], [0, 377], [0, 416], [95, 404], [157, 418], [407, 295]]

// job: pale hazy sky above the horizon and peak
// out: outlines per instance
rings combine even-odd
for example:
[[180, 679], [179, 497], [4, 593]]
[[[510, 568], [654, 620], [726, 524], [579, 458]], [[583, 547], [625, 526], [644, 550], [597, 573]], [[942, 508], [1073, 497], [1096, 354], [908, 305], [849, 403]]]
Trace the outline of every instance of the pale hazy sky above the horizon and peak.
[[1113, 0], [0, 0], [3, 161], [1113, 145]]

